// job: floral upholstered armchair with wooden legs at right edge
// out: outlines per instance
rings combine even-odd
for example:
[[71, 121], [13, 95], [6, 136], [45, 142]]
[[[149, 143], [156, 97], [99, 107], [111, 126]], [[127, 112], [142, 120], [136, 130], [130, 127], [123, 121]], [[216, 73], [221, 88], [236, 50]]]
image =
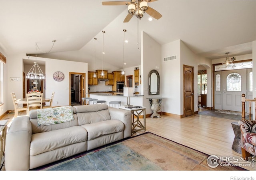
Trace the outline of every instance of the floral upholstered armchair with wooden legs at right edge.
[[256, 155], [256, 121], [238, 121], [241, 130], [242, 157], [247, 160], [250, 154]]

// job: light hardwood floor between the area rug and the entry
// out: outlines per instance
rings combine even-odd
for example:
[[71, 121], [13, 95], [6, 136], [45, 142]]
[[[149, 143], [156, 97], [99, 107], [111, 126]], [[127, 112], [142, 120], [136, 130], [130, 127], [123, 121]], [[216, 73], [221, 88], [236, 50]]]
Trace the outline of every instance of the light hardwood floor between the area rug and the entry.
[[[26, 114], [26, 113], [25, 113]], [[18, 116], [24, 115], [24, 112]], [[8, 114], [2, 120], [9, 119], [10, 126], [14, 114]], [[141, 119], [143, 122], [143, 120]], [[161, 118], [146, 118], [146, 132], [152, 132], [174, 142], [183, 144], [208, 155], [238, 156], [232, 150], [234, 132], [231, 122], [224, 118], [196, 114], [186, 118], [172, 118], [162, 115]], [[135, 135], [141, 134], [137, 132]], [[247, 170], [256, 168], [245, 167]]]

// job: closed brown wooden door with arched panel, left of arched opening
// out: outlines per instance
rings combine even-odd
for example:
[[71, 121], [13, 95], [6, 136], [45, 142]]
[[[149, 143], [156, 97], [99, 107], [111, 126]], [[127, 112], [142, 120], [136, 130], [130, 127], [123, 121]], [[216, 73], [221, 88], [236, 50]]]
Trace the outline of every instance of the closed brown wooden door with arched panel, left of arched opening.
[[183, 65], [184, 117], [194, 114], [194, 67]]

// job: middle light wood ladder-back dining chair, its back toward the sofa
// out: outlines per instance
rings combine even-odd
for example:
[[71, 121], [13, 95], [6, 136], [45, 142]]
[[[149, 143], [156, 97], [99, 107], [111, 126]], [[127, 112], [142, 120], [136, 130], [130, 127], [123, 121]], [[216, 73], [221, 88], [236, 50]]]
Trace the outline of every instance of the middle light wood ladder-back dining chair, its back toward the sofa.
[[32, 109], [42, 109], [43, 93], [27, 93], [27, 113]]

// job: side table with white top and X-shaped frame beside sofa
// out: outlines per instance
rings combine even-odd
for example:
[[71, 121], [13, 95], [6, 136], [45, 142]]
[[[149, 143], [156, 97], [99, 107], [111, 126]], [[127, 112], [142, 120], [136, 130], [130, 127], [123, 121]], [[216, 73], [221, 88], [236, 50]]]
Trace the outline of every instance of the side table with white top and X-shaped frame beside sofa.
[[[146, 107], [141, 108], [126, 108], [119, 106], [119, 109], [124, 109], [132, 112], [132, 134], [141, 130], [146, 131]], [[140, 122], [140, 115], [143, 113], [143, 124]], [[134, 116], [137, 118], [134, 120]]]

